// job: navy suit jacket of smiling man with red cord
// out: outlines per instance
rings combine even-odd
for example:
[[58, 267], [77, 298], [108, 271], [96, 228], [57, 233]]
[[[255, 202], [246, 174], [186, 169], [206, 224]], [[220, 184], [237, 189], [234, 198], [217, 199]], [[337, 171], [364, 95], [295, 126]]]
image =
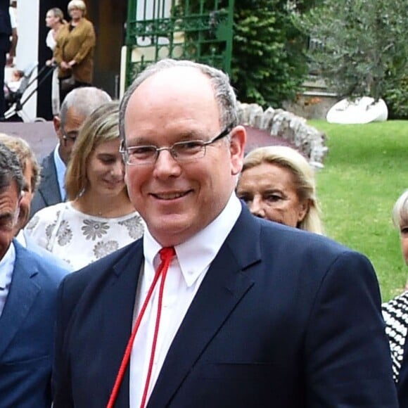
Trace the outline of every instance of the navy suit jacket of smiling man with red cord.
[[[142, 241], [60, 286], [54, 407], [106, 406]], [[181, 323], [148, 407], [397, 407], [376, 275], [328, 238], [246, 208]], [[129, 406], [129, 368], [116, 407]]]

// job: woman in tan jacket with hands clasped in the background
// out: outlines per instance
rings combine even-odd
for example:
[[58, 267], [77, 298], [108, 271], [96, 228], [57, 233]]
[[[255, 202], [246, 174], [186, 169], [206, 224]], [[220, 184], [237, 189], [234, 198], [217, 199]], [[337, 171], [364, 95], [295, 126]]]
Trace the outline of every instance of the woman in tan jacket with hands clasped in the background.
[[58, 64], [60, 101], [69, 91], [92, 84], [94, 74], [94, 25], [85, 18], [87, 6], [82, 0], [68, 3], [71, 21], [58, 33], [53, 58]]

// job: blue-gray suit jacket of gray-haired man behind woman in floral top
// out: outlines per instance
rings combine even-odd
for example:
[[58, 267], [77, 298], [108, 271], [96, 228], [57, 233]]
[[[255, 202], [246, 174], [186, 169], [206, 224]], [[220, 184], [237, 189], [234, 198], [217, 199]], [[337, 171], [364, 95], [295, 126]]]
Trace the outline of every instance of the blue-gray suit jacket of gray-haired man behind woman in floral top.
[[30, 218], [42, 208], [61, 203], [62, 201], [54, 162], [54, 152], [52, 151], [42, 161], [41, 181], [32, 198]]

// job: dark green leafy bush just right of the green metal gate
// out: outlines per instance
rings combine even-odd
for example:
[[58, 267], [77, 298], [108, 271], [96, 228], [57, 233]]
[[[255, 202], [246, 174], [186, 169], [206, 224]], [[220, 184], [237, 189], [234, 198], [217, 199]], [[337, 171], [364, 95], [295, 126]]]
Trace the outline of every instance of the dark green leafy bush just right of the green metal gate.
[[235, 3], [231, 80], [241, 101], [279, 107], [295, 96], [305, 79], [305, 39], [293, 27], [287, 4]]

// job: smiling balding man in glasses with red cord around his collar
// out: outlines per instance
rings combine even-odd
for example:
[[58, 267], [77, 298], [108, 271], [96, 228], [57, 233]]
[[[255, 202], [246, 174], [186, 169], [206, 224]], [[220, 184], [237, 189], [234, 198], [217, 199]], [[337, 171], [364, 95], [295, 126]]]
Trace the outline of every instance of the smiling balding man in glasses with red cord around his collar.
[[236, 198], [246, 132], [226, 75], [159, 61], [120, 132], [147, 229], [61, 284], [55, 408], [397, 407], [369, 260]]

